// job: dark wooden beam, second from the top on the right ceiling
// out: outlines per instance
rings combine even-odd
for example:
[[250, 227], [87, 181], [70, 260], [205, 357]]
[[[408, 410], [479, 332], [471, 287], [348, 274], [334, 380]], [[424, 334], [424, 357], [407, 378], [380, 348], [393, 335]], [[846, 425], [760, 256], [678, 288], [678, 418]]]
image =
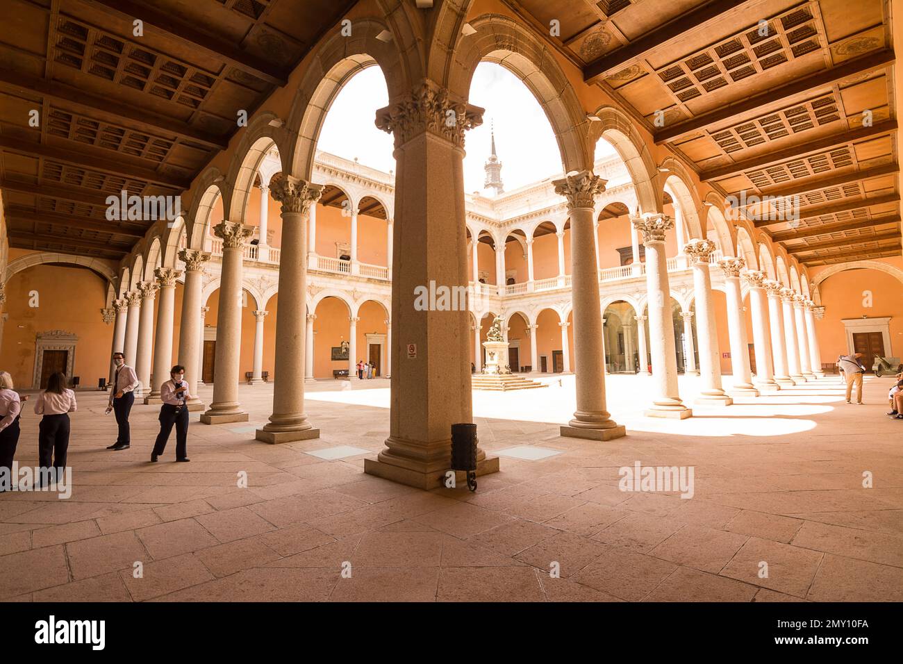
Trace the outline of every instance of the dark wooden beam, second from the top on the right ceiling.
[[769, 90], [755, 97], [743, 98], [739, 101], [722, 106], [710, 113], [702, 116], [694, 117], [685, 122], [681, 122], [675, 126], [670, 126], [656, 132], [654, 138], [656, 145], [661, 145], [678, 138], [692, 134], [700, 129], [706, 129], [713, 125], [725, 125], [740, 122], [750, 111], [765, 112], [765, 108], [771, 104], [780, 102], [788, 97], [814, 92], [833, 85], [841, 79], [854, 76], [861, 73], [870, 73], [874, 70], [880, 70], [893, 64], [895, 61], [894, 51], [878, 51], [870, 55], [864, 55], [851, 61], [846, 61], [837, 67], [829, 70], [821, 70], [807, 76], [804, 79], [795, 79], [780, 88]]

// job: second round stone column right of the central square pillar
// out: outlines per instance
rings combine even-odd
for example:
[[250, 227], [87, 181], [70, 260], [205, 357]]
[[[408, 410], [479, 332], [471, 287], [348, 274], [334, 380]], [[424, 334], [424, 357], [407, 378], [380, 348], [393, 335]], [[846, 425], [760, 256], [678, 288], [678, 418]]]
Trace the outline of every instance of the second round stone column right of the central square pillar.
[[665, 232], [674, 225], [674, 220], [658, 212], [646, 213], [630, 221], [642, 232], [646, 247], [649, 341], [652, 344], [652, 375], [656, 379], [656, 394], [646, 416], [685, 419], [693, 416], [693, 411], [684, 406], [677, 389], [675, 330], [665, 255]]

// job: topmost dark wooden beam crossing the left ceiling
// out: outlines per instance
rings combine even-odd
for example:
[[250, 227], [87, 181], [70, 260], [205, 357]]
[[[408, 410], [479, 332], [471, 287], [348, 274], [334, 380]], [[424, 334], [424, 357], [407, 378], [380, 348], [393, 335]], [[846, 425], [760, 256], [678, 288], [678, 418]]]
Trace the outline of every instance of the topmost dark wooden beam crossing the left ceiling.
[[82, 0], [86, 5], [91, 5], [98, 10], [98, 14], [118, 14], [128, 20], [129, 23], [139, 19], [144, 23], [145, 29], [151, 26], [154, 30], [166, 33], [200, 51], [204, 55], [245, 71], [251, 76], [263, 79], [284, 88], [288, 82], [288, 72], [272, 62], [257, 58], [234, 44], [225, 42], [208, 33], [201, 33], [194, 26], [176, 21], [172, 14], [157, 12], [153, 7], [138, 5], [131, 0]]

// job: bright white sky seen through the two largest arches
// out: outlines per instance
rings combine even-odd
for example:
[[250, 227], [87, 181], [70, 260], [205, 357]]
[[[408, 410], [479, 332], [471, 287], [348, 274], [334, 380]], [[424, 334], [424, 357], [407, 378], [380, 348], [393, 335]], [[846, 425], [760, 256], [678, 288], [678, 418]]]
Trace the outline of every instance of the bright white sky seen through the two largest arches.
[[[502, 182], [511, 191], [562, 172], [552, 126], [530, 90], [500, 65], [481, 62], [470, 85], [470, 103], [486, 109], [482, 126], [465, 136], [464, 191], [483, 191], [495, 123]], [[377, 108], [388, 104], [382, 70], [363, 70], [343, 88], [323, 123], [318, 150], [388, 172], [395, 169], [393, 138], [374, 124]]]

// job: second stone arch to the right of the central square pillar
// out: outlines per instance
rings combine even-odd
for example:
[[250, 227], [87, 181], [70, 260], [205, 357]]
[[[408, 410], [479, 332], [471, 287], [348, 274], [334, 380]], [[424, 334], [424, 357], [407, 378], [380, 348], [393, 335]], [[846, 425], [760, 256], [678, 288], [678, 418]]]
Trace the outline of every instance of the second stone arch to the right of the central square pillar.
[[614, 147], [627, 166], [630, 181], [637, 194], [639, 211], [659, 212], [664, 188], [656, 185], [658, 168], [636, 126], [623, 111], [611, 106], [598, 108], [593, 114], [600, 122], [590, 125], [590, 145], [595, 150], [600, 138]]

